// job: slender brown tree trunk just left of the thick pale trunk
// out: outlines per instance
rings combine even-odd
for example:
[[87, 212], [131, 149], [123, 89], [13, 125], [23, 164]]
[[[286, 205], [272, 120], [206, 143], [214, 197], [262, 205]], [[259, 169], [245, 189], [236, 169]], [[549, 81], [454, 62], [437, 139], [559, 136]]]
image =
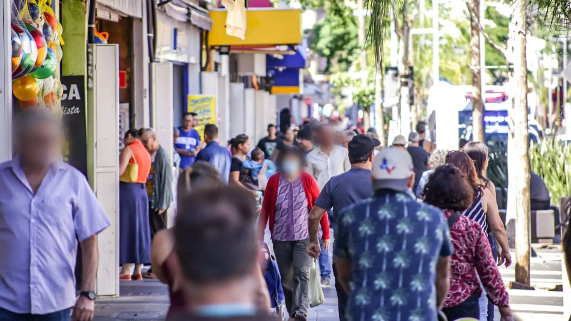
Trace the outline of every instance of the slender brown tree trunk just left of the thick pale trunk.
[[478, 28], [478, 21], [480, 19], [480, 1], [484, 0], [471, 1], [472, 9], [475, 11], [470, 15], [470, 65], [472, 69], [472, 140], [483, 142], [484, 123], [482, 122], [482, 82], [480, 80], [482, 71], [480, 69], [480, 29]]

